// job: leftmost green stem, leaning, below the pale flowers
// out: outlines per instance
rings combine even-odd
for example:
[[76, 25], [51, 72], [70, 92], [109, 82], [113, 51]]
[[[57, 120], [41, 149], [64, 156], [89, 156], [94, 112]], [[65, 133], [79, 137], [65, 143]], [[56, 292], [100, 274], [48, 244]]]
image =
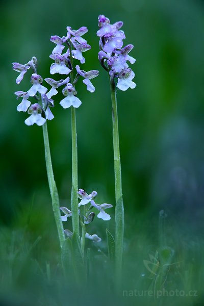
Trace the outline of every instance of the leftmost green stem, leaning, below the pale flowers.
[[42, 130], [43, 130], [43, 138], [44, 138], [45, 162], [46, 162], [49, 190], [50, 190], [50, 194], [52, 197], [53, 212], [54, 212], [55, 221], [57, 225], [57, 231], [58, 231], [58, 236], [60, 240], [60, 247], [62, 248], [63, 242], [65, 240], [65, 235], [64, 235], [64, 228], [63, 228], [61, 214], [60, 214], [60, 200], [59, 200], [58, 190], [57, 190], [57, 186], [56, 186], [55, 179], [54, 179], [46, 122], [43, 124]]

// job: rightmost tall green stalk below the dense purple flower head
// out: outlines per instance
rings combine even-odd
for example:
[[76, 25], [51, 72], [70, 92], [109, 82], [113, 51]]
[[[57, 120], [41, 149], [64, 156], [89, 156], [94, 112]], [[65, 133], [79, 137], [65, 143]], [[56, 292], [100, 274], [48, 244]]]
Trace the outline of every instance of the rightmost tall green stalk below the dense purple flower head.
[[118, 114], [117, 98], [114, 79], [111, 80], [111, 100], [112, 100], [112, 119], [113, 119], [113, 151], [114, 151], [114, 172], [115, 172], [115, 264], [116, 279], [121, 281], [122, 273], [122, 252], [124, 235], [124, 209], [122, 200], [122, 181], [120, 165], [120, 147], [118, 133]]

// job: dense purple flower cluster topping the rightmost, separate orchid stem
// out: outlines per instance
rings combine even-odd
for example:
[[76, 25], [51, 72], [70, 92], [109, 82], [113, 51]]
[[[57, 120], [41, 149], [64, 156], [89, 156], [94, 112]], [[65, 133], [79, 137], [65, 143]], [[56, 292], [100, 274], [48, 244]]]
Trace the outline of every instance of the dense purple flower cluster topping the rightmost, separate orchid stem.
[[98, 16], [98, 27], [100, 28], [97, 31], [97, 36], [100, 37], [98, 59], [111, 78], [118, 79], [116, 87], [124, 91], [136, 87], [132, 81], [135, 73], [127, 64], [127, 62], [134, 64], [136, 60], [129, 55], [134, 47], [132, 44], [122, 47], [123, 39], [125, 39], [124, 32], [120, 30], [122, 25], [122, 21], [111, 24], [104, 15]]

